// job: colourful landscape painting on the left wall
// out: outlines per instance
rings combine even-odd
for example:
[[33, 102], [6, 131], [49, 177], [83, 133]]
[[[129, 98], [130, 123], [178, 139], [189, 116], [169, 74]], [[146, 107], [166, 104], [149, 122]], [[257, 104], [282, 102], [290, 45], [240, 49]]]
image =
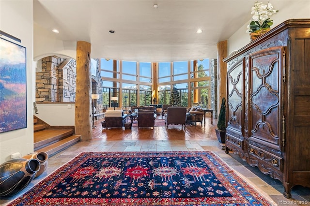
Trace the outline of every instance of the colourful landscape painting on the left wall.
[[0, 38], [0, 133], [26, 127], [26, 48]]

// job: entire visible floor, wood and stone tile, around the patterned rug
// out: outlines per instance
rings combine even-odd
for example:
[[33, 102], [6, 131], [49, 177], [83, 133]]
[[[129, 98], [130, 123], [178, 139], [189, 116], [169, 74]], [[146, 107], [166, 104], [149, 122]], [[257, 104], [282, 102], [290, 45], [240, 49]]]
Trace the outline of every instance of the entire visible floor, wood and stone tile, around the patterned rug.
[[185, 150], [213, 151], [244, 177], [249, 184], [279, 206], [305, 205], [302, 203], [307, 203], [307, 201], [307, 205], [310, 205], [309, 188], [295, 186], [292, 190], [293, 199], [286, 199], [282, 195], [284, 188], [280, 181], [263, 175], [256, 167], [249, 166], [232, 152], [225, 154], [224, 150], [222, 150], [224, 145], [217, 141], [215, 133], [217, 128], [216, 119], [213, 119], [213, 124], [211, 124], [211, 119], [207, 117], [205, 118], [205, 125], [204, 122], [202, 122], [202, 125], [197, 123], [196, 127], [194, 125], [186, 125], [186, 130], [181, 126], [170, 126], [168, 130], [166, 127], [154, 127], [154, 129], [132, 127], [132, 129], [128, 130], [124, 128], [102, 129], [100, 121], [94, 121], [96, 128], [93, 129], [92, 140], [78, 142], [50, 157], [45, 173], [34, 179], [28, 188], [14, 197], [1, 198], [0, 205], [6, 205], [17, 196], [22, 195], [23, 192], [33, 187], [37, 182], [47, 177], [48, 174], [51, 174], [66, 162], [72, 160], [80, 152]]

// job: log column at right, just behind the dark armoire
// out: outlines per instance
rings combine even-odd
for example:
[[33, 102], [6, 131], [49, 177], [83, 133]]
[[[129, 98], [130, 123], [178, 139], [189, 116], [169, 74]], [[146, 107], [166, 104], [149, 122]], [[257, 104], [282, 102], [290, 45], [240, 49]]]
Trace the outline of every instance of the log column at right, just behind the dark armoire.
[[[217, 112], [219, 113], [222, 98], [226, 100], [227, 94], [227, 40], [217, 43]], [[227, 106], [227, 105], [226, 105]], [[218, 115], [217, 115], [218, 117]]]

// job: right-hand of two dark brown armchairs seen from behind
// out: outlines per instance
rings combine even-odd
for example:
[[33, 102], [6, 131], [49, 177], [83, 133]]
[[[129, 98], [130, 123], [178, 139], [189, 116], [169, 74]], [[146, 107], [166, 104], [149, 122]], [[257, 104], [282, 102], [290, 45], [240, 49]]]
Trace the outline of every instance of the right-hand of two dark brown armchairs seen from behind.
[[186, 107], [171, 106], [167, 108], [167, 116], [165, 117], [165, 125], [168, 128], [170, 124], [181, 124], [186, 126]]

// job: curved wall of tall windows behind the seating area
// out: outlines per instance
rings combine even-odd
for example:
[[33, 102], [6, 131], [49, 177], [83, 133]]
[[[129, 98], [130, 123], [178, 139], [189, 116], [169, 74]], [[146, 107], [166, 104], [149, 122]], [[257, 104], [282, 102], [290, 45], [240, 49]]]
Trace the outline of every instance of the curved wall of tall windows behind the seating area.
[[[169, 104], [171, 90], [176, 85], [181, 106], [199, 104], [208, 107], [211, 102], [209, 64], [209, 59], [158, 62], [157, 68], [152, 68], [151, 62], [101, 59], [103, 103], [111, 105], [108, 98], [117, 95], [120, 100], [118, 105], [123, 107]], [[122, 88], [122, 92], [116, 92], [114, 88]]]

